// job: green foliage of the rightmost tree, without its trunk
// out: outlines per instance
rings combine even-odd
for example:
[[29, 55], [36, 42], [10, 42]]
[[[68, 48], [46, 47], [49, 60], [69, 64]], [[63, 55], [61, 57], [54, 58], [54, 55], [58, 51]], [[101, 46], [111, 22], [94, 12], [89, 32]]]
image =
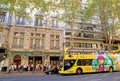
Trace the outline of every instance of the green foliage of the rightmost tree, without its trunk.
[[[94, 14], [98, 14], [101, 20], [108, 22], [111, 18], [114, 20], [120, 17], [119, 0], [88, 0], [88, 8], [85, 10], [85, 19], [89, 19]], [[103, 21], [101, 21], [103, 22]]]

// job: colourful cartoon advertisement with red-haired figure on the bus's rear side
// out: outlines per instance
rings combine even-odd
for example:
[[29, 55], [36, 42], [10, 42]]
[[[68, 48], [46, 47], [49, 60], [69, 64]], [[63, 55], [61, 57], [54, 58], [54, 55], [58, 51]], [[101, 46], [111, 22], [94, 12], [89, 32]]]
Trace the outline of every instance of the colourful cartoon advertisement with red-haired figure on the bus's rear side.
[[120, 55], [95, 55], [92, 61], [93, 72], [109, 71], [110, 66], [120, 69]]

